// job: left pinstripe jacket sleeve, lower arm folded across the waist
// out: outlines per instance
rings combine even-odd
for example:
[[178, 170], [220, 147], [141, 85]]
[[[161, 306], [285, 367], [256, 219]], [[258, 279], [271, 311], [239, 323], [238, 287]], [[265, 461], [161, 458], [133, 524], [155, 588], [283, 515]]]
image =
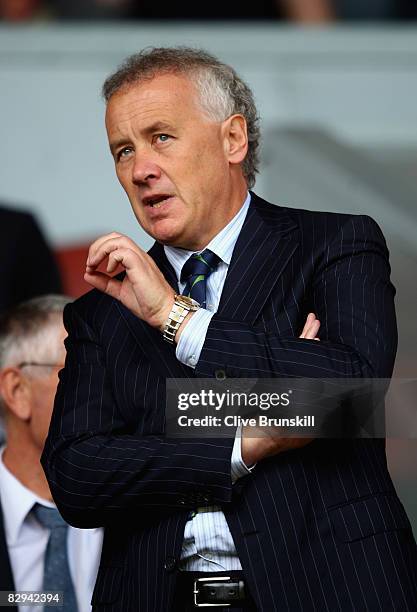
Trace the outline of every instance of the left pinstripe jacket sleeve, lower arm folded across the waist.
[[66, 363], [41, 459], [63, 517], [93, 527], [132, 511], [170, 513], [229, 502], [233, 439], [129, 433], [97, 331], [77, 303], [66, 307], [64, 322]]

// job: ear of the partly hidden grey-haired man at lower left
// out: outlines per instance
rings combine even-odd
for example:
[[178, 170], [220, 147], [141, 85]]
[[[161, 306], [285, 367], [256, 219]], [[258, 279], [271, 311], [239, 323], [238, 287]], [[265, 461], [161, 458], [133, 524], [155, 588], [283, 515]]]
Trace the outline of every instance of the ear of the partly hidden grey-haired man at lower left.
[[6, 410], [22, 421], [30, 419], [30, 383], [19, 368], [4, 368], [0, 372], [0, 393]]

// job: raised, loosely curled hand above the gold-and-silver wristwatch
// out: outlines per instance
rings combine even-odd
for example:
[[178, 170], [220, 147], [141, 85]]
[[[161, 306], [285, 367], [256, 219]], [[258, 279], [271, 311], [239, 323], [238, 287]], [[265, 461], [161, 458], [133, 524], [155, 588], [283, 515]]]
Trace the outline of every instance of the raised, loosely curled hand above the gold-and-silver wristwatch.
[[[106, 272], [98, 271], [106, 259]], [[112, 276], [118, 265], [125, 269], [123, 280]], [[84, 279], [152, 327], [163, 330], [174, 303], [174, 290], [153, 259], [127, 236], [112, 232], [93, 242]]]

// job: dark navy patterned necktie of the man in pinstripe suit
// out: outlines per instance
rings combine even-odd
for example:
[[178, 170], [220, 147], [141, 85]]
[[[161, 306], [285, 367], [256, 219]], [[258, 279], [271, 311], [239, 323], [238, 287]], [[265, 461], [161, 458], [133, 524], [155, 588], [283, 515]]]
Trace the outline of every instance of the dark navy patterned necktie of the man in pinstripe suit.
[[219, 262], [220, 257], [209, 249], [199, 254], [193, 253], [181, 270], [181, 282], [185, 283], [182, 295], [191, 297], [205, 308], [206, 281]]

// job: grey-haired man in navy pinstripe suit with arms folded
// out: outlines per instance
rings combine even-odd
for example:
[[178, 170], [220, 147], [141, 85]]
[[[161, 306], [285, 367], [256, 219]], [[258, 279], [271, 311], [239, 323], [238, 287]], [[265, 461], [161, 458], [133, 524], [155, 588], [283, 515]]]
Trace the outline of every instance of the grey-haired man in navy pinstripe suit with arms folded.
[[[94, 610], [415, 609], [416, 546], [383, 440], [164, 436], [168, 377], [389, 378], [378, 226], [248, 193], [256, 108], [209, 54], [146, 50], [104, 96], [117, 176], [156, 242], [99, 238], [95, 290], [65, 312], [43, 465], [69, 523], [105, 526]], [[211, 274], [184, 273], [195, 253]], [[202, 287], [199, 305], [178, 295]], [[321, 325], [310, 314], [299, 337], [313, 312]]]

